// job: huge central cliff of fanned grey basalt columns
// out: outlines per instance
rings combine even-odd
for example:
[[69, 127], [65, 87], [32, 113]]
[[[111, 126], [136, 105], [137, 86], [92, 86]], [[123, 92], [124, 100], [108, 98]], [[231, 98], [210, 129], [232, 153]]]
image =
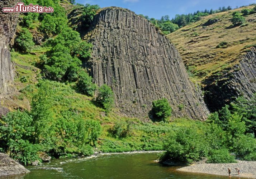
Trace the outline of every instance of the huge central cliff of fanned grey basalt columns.
[[165, 97], [174, 117], [207, 117], [201, 91], [189, 81], [177, 49], [146, 19], [105, 8], [86, 38], [94, 45], [87, 67], [96, 84], [112, 87], [123, 114], [148, 117], [152, 101]]

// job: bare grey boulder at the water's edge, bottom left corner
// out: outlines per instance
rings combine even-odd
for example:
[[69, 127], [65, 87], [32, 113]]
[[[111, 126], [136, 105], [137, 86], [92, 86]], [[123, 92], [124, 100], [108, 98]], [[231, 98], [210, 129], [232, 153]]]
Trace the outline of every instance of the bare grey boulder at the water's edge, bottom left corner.
[[29, 170], [20, 165], [8, 155], [0, 153], [0, 177], [28, 173]]

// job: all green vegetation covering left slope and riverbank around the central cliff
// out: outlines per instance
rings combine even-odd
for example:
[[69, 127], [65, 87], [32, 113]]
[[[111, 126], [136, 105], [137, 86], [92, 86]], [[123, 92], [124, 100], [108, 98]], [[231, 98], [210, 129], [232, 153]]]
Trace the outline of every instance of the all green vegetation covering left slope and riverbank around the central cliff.
[[[207, 122], [170, 118], [165, 98], [152, 102], [152, 121], [120, 116], [112, 89], [96, 86], [82, 68], [92, 44], [68, 26], [58, 1], [33, 4], [52, 6], [54, 13], [22, 14], [11, 52], [19, 93], [1, 101], [11, 111], [0, 118], [0, 152], [25, 165], [41, 160], [41, 153], [59, 158], [135, 150], [166, 150], [162, 161], [255, 160], [255, 98], [238, 98]], [[83, 25], [88, 27], [98, 9], [84, 6]]]

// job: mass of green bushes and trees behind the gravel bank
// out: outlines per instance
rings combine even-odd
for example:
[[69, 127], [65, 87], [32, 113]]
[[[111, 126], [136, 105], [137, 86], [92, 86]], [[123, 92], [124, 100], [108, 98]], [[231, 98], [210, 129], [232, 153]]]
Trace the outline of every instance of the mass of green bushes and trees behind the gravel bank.
[[231, 106], [210, 114], [201, 132], [184, 127], [170, 132], [160, 159], [192, 163], [207, 157], [209, 163], [230, 163], [236, 156], [255, 160], [255, 99], [239, 97]]

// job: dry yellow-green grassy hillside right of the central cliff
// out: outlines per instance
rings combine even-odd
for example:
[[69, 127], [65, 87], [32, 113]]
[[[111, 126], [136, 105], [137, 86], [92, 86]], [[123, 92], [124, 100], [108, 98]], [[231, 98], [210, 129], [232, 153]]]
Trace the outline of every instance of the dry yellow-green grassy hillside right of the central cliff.
[[[167, 35], [179, 50], [193, 82], [200, 83], [213, 73], [233, 67], [239, 62], [241, 54], [256, 45], [256, 13], [244, 15], [246, 22], [241, 26], [233, 26], [231, 23], [234, 11], [253, 7], [205, 16]], [[216, 19], [217, 22], [206, 25], [210, 19]], [[226, 45], [217, 48], [221, 42]]]

